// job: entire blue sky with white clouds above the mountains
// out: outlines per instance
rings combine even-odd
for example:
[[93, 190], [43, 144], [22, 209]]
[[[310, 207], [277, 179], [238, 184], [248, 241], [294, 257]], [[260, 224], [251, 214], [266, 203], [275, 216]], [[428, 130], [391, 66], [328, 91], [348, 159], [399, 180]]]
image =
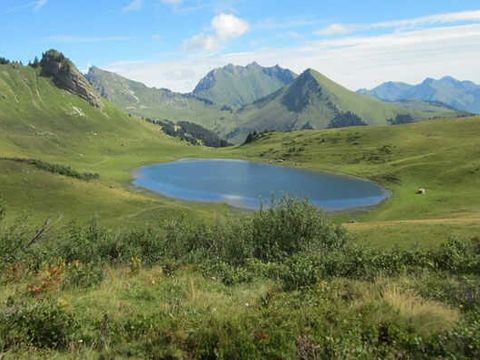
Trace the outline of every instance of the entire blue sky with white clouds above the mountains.
[[149, 86], [213, 68], [313, 68], [352, 90], [450, 75], [480, 83], [478, 0], [0, 0], [0, 56], [55, 48]]

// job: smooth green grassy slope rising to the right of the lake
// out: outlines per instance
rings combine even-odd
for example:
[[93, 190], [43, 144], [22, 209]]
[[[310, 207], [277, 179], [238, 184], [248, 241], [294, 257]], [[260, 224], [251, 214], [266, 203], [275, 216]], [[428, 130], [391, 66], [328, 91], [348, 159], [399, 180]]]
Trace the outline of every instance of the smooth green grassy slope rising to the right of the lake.
[[[422, 237], [436, 242], [434, 234], [450, 234], [444, 230], [454, 229], [461, 235], [467, 228], [471, 228], [468, 233], [480, 232], [479, 134], [478, 117], [303, 131], [271, 134], [251, 145], [227, 150], [226, 156], [379, 181], [392, 190], [392, 197], [373, 211], [353, 215], [368, 225], [349, 226], [368, 234], [373, 242], [385, 243], [393, 234], [411, 245], [421, 242]], [[381, 150], [385, 145], [391, 148], [390, 154]], [[416, 195], [418, 187], [425, 187], [427, 195]], [[339, 218], [348, 220], [352, 215]]]

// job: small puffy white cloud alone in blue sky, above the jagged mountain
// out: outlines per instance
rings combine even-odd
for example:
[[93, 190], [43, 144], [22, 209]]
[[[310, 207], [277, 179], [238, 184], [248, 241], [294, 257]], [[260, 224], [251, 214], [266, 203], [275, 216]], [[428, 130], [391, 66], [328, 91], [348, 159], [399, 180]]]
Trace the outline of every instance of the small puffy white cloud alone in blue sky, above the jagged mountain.
[[187, 50], [212, 51], [229, 40], [243, 36], [249, 29], [250, 25], [245, 20], [222, 13], [213, 18], [209, 32], [193, 36], [184, 45]]

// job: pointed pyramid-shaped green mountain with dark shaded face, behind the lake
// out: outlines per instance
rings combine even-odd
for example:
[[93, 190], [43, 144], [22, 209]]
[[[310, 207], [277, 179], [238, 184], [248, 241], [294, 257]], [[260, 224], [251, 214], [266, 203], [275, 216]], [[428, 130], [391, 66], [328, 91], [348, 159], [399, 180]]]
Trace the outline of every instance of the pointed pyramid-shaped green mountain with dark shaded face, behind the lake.
[[235, 141], [254, 130], [292, 131], [342, 124], [381, 125], [404, 114], [421, 120], [456, 116], [457, 112], [442, 105], [387, 103], [362, 96], [309, 69], [292, 84], [242, 108], [238, 113], [241, 123], [228, 137]]

